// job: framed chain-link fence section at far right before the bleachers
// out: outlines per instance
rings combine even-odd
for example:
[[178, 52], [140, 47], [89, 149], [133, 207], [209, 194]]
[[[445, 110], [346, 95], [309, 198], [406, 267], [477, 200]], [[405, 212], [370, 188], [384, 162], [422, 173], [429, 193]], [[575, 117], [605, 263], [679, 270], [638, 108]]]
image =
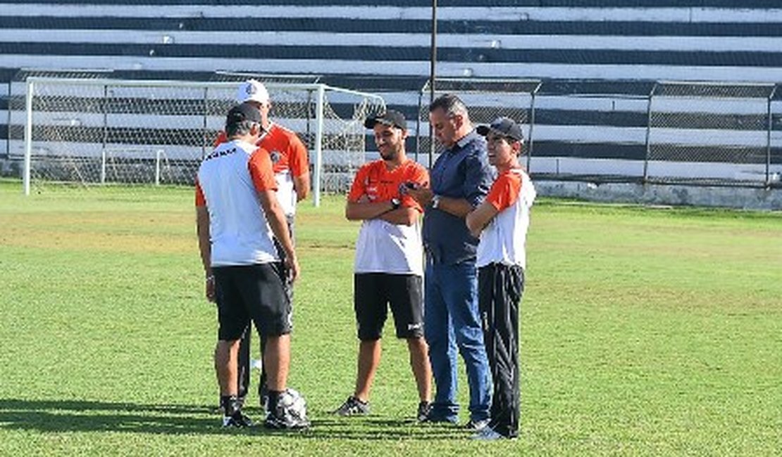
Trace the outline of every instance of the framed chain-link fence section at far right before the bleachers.
[[779, 140], [773, 136], [776, 88], [658, 82], [649, 99], [644, 178], [738, 186], [778, 181], [772, 167]]

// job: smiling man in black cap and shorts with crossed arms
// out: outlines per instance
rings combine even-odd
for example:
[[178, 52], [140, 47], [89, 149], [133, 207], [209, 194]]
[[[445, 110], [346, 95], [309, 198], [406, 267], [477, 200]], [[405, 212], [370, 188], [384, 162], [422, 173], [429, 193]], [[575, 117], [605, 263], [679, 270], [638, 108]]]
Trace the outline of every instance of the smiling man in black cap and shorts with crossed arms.
[[432, 395], [432, 369], [424, 339], [421, 296], [423, 252], [418, 219], [423, 208], [407, 190], [429, 186], [429, 174], [407, 158], [407, 122], [402, 113], [389, 110], [367, 119], [364, 126], [374, 131], [381, 159], [359, 169], [347, 197], [345, 217], [363, 221], [353, 276], [353, 310], [360, 342], [355, 391], [334, 413], [369, 413], [369, 393], [380, 363], [380, 337], [390, 305], [396, 337], [407, 340], [410, 352], [418, 387], [418, 420], [425, 420]]

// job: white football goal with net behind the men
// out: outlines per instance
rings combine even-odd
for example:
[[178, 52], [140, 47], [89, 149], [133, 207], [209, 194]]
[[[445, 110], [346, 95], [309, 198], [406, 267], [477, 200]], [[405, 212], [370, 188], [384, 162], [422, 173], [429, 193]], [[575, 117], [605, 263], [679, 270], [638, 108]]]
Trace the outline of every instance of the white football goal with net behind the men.
[[[272, 121], [310, 152], [314, 204], [321, 192], [345, 192], [365, 161], [363, 121], [385, 110], [383, 98], [322, 83], [262, 82]], [[192, 185], [240, 83], [27, 78], [24, 193], [63, 184]]]

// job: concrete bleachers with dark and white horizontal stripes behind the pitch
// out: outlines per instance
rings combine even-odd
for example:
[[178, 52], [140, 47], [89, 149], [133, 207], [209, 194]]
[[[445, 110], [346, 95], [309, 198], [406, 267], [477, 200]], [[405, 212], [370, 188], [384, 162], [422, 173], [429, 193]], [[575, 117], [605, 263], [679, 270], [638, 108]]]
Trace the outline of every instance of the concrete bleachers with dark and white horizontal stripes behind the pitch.
[[[644, 96], [656, 80], [782, 82], [777, 2], [438, 3], [439, 76], [543, 81], [535, 114], [535, 154], [543, 158], [593, 160], [596, 168], [605, 168], [604, 160], [642, 159]], [[381, 93], [412, 118], [429, 77], [432, 11], [421, 4], [0, 2], [0, 85], [7, 87], [0, 90], [0, 155], [9, 154], [9, 134], [20, 139], [18, 124], [9, 126], [11, 116], [2, 114], [19, 96], [11, 82], [21, 69], [111, 69], [112, 77], [185, 80], [210, 80], [217, 70], [305, 73]], [[782, 154], [774, 158], [782, 161]]]

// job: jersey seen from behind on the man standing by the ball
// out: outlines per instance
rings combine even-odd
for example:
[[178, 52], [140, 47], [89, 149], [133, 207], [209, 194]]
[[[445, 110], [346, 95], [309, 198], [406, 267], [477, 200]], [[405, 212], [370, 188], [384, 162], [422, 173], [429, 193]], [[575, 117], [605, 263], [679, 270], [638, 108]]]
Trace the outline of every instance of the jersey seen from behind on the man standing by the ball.
[[239, 140], [206, 156], [195, 182], [195, 206], [209, 211], [213, 267], [279, 260], [258, 192], [276, 190], [267, 151]]

